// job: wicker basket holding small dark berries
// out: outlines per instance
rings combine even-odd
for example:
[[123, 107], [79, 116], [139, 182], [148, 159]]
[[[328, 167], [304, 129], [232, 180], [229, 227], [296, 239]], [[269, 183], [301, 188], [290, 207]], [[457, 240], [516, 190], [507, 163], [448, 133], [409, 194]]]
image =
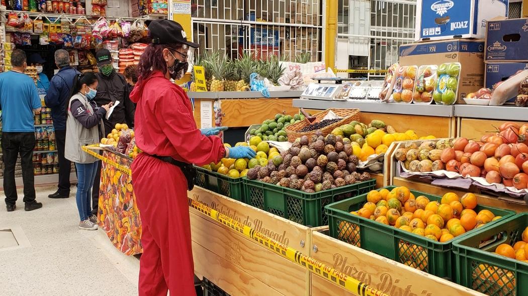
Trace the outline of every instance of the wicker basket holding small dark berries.
[[359, 121], [360, 116], [358, 113], [360, 113], [359, 109], [339, 109], [339, 108], [330, 108], [323, 112], [319, 112], [315, 114], [315, 117], [319, 121], [323, 120], [323, 118], [328, 114], [328, 112], [334, 112], [337, 116], [343, 117], [343, 120], [338, 121], [336, 123], [333, 123], [331, 125], [323, 127], [323, 129], [315, 130], [315, 131], [309, 131], [309, 132], [298, 132], [303, 129], [303, 127], [310, 125], [308, 120], [303, 120], [298, 123], [294, 123], [291, 125], [288, 125], [286, 127], [286, 135], [288, 136], [289, 142], [294, 142], [295, 139], [297, 139], [300, 136], [306, 135], [308, 137], [315, 135], [317, 131], [323, 132], [323, 135], [326, 136], [327, 134], [331, 133], [332, 130], [334, 130], [336, 127], [339, 127], [343, 124], [351, 123], [353, 121]]

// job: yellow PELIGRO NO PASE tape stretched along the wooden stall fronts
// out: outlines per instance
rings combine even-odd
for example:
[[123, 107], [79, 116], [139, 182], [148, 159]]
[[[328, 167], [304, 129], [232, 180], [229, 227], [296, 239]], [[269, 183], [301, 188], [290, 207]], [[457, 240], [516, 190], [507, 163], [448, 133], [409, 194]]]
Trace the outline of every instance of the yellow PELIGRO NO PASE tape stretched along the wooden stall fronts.
[[288, 259], [291, 262], [308, 269], [310, 272], [316, 273], [321, 277], [331, 281], [334, 284], [339, 285], [340, 287], [356, 294], [359, 296], [389, 296], [369, 285], [356, 280], [349, 275], [346, 275], [340, 271], [335, 270], [334, 268], [320, 262], [314, 258], [287, 246], [281, 244], [278, 241], [268, 238], [266, 235], [257, 232], [256, 230], [250, 228], [246, 224], [235, 221], [229, 218], [227, 215], [224, 215], [216, 210], [209, 208], [205, 204], [189, 199], [189, 206], [194, 208], [201, 213], [208, 215], [213, 220], [216, 220], [225, 226], [233, 229], [234, 231], [240, 232], [244, 236], [247, 236], [249, 239], [260, 243], [265, 246], [268, 250], [279, 254], [280, 256]]

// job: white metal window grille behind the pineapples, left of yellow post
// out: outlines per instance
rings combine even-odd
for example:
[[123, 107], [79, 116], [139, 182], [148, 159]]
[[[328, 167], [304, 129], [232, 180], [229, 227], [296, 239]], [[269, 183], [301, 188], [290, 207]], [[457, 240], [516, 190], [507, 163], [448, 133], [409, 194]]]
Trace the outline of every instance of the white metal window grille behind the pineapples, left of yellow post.
[[322, 61], [325, 0], [192, 0], [193, 40], [204, 50], [231, 58], [251, 51], [257, 58], [295, 61], [303, 52]]

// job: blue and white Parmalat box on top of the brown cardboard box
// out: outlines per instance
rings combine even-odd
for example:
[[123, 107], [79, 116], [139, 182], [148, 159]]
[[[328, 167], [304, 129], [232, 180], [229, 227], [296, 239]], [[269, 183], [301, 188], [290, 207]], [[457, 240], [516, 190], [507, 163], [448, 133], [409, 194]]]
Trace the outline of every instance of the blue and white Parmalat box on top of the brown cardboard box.
[[486, 22], [508, 15], [508, 0], [422, 0], [416, 7], [416, 40], [483, 39]]

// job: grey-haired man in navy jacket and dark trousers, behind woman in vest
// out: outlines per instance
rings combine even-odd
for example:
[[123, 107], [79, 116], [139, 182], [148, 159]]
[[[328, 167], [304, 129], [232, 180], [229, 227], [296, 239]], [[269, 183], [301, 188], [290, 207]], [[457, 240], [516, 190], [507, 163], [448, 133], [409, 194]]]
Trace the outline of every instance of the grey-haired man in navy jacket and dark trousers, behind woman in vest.
[[55, 64], [60, 70], [51, 78], [50, 88], [44, 97], [44, 102], [47, 107], [51, 108], [51, 118], [55, 127], [55, 141], [59, 152], [59, 185], [57, 192], [48, 197], [65, 199], [70, 197], [71, 162], [64, 158], [67, 117], [64, 106], [70, 100], [73, 79], [80, 72], [70, 66], [70, 55], [65, 50], [55, 51]]

